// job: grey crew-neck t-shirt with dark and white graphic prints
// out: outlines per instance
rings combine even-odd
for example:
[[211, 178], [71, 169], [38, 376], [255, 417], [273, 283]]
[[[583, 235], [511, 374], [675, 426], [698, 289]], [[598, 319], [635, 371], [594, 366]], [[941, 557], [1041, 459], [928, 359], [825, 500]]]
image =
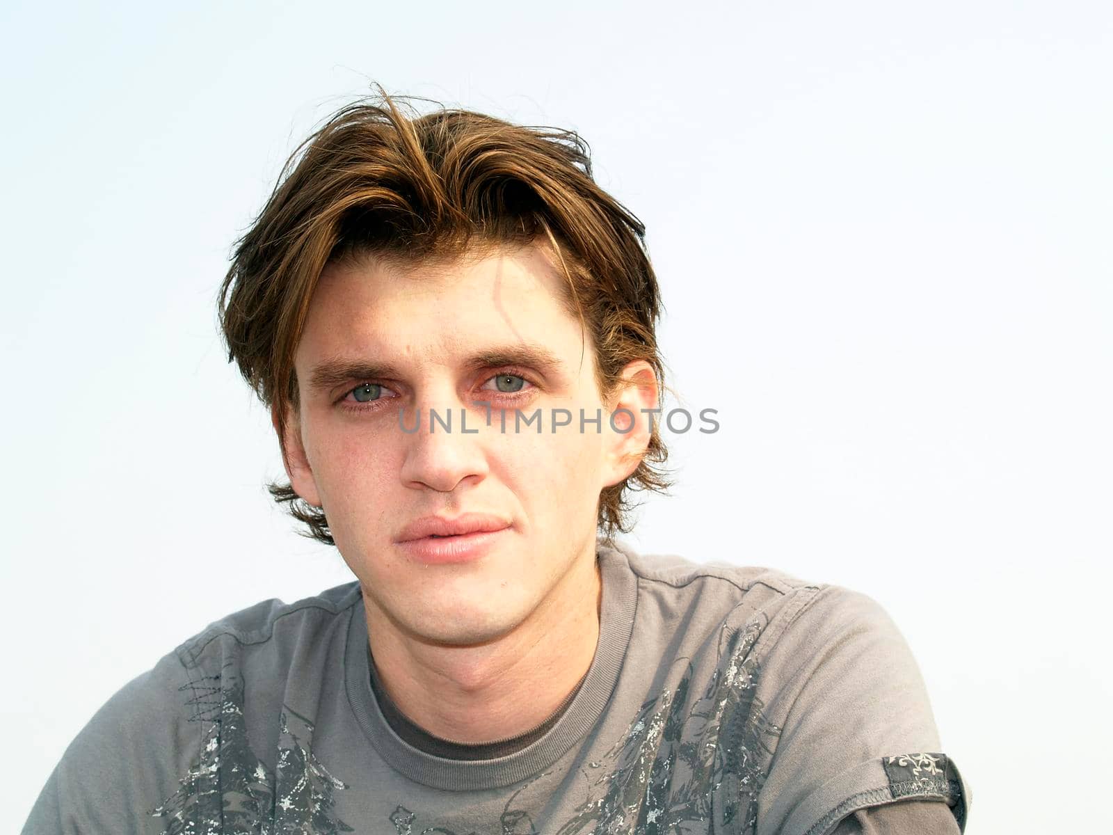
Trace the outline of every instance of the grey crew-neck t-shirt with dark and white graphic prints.
[[126, 685], [23, 833], [826, 835], [844, 818], [869, 832], [859, 813], [886, 805], [964, 828], [969, 789], [874, 600], [621, 543], [598, 554], [591, 667], [509, 754], [444, 757], [395, 731], [352, 582], [232, 615]]

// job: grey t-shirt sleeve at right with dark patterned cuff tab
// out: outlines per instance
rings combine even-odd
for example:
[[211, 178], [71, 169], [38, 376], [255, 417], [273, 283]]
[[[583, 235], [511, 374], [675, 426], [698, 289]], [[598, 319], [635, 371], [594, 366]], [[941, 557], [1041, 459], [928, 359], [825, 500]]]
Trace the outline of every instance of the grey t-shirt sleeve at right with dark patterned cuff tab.
[[939, 752], [923, 677], [888, 613], [826, 586], [786, 617], [759, 647], [758, 694], [780, 733], [757, 835], [830, 835], [858, 809], [910, 799], [943, 800], [963, 832], [969, 789]]

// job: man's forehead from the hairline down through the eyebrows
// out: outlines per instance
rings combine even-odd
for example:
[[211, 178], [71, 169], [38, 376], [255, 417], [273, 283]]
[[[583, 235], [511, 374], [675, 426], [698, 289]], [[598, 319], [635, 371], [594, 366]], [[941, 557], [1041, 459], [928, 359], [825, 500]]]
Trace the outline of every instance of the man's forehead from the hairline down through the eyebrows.
[[585, 334], [555, 287], [536, 286], [559, 281], [553, 272], [536, 247], [417, 263], [365, 254], [332, 264], [298, 346], [302, 379], [321, 391], [436, 365], [522, 365], [574, 377]]

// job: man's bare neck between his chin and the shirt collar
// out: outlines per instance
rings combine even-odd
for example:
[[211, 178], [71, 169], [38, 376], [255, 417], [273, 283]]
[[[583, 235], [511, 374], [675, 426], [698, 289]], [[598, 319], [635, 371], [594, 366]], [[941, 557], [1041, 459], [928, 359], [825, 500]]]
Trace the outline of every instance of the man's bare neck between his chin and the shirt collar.
[[508, 739], [543, 723], [580, 682], [599, 642], [602, 578], [575, 563], [513, 631], [480, 647], [445, 647], [402, 633], [366, 596], [380, 681], [433, 736], [465, 744]]

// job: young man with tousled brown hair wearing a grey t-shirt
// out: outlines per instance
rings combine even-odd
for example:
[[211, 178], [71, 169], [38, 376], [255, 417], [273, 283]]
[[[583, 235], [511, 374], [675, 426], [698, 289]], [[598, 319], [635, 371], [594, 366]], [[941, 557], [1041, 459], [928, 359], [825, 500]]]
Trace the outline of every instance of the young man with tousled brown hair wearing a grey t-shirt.
[[384, 95], [311, 137], [221, 325], [356, 581], [127, 685], [24, 833], [961, 832], [877, 603], [615, 540], [668, 483], [642, 235], [572, 134]]

